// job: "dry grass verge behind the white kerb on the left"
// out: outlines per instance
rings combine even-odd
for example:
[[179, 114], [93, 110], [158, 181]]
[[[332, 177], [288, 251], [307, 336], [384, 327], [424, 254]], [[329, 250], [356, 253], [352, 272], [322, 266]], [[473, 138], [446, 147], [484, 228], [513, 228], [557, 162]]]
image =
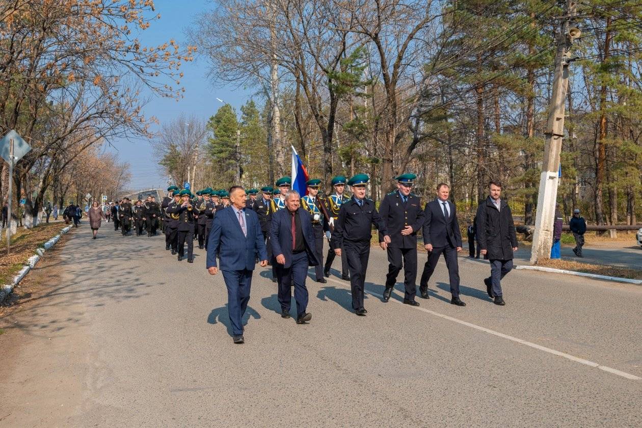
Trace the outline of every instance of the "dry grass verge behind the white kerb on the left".
[[36, 249], [57, 235], [65, 223], [44, 223], [31, 229], [18, 228], [11, 237], [11, 254], [6, 255], [6, 240], [0, 243], [0, 284], [6, 284]]

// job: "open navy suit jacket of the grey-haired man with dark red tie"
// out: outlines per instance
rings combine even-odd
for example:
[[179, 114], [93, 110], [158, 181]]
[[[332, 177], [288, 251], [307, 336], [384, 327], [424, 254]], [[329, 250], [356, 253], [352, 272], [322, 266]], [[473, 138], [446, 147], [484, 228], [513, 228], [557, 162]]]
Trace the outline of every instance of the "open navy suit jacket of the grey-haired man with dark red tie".
[[[312, 228], [310, 214], [308, 211], [299, 207], [299, 219], [301, 221], [301, 230], [303, 240], [308, 253], [308, 265], [317, 266], [320, 261], [315, 255], [317, 244], [315, 242], [315, 231]], [[290, 210], [278, 210], [272, 214], [272, 225], [270, 226], [270, 243], [272, 244], [273, 261], [276, 263], [276, 256], [284, 255], [284, 268], [290, 268], [292, 265], [292, 220]]]

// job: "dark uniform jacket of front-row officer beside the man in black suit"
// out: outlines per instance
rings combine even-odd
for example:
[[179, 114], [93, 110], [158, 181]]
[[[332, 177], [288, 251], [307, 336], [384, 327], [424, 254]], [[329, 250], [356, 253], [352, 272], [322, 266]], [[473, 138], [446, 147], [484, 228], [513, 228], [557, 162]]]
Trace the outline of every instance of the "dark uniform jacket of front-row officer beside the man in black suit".
[[[424, 225], [424, 210], [421, 200], [416, 194], [409, 194], [406, 203], [401, 200], [399, 191], [386, 194], [379, 205], [379, 216], [386, 223], [390, 234], [390, 246], [396, 248], [417, 247], [417, 232]], [[412, 234], [402, 235], [401, 230], [412, 226]], [[383, 234], [379, 232], [379, 242], [383, 242]]]

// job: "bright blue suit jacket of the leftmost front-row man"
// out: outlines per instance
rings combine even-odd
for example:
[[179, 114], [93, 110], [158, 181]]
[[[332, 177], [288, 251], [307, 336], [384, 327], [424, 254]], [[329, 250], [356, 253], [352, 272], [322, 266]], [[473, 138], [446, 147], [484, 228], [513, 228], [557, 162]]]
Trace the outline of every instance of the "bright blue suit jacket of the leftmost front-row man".
[[[218, 267], [221, 270], [254, 270], [256, 256], [267, 260], [268, 254], [263, 241], [263, 233], [256, 212], [245, 210], [245, 230], [232, 207], [222, 209], [214, 214], [212, 229], [207, 242], [207, 268]], [[220, 266], [216, 264], [216, 254], [220, 256]]]

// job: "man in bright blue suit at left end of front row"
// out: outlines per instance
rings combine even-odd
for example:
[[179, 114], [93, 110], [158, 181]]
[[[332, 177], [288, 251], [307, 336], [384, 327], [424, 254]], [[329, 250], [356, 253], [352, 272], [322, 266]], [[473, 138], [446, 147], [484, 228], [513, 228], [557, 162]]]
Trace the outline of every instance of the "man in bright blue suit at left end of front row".
[[227, 287], [227, 303], [234, 343], [243, 343], [243, 314], [250, 300], [252, 271], [259, 256], [261, 267], [268, 265], [265, 241], [256, 212], [245, 209], [245, 189], [230, 187], [229, 209], [216, 211], [207, 242], [207, 271], [218, 273], [216, 255]]

